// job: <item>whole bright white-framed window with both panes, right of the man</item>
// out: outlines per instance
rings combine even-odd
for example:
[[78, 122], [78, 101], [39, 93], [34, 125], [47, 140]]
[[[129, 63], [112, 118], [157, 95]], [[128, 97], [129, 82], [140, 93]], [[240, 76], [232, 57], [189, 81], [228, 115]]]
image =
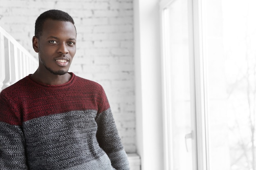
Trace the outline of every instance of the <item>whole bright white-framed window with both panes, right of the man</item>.
[[160, 2], [166, 170], [256, 170], [254, 7]]

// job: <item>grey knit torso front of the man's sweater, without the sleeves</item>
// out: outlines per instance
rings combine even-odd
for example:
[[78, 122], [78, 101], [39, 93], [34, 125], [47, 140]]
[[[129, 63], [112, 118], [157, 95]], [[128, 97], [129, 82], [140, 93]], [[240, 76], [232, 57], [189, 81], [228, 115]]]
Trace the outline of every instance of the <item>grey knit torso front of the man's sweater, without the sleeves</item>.
[[72, 111], [26, 121], [30, 170], [112, 170], [96, 138], [96, 115], [95, 110]]

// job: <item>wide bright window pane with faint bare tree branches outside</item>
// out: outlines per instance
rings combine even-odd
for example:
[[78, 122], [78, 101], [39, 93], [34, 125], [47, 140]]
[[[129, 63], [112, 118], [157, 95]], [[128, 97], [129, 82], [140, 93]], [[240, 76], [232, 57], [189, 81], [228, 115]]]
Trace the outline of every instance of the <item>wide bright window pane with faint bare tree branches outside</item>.
[[206, 0], [210, 170], [256, 170], [256, 1]]

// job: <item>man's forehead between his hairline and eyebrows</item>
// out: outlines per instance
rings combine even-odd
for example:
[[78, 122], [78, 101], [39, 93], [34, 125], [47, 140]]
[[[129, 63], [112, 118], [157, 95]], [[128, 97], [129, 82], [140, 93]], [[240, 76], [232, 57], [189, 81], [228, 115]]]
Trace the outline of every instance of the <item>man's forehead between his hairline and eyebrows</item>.
[[[68, 36], [76, 38], [76, 29], [72, 22], [47, 19], [43, 23], [42, 36]], [[42, 37], [41, 36], [41, 37]]]

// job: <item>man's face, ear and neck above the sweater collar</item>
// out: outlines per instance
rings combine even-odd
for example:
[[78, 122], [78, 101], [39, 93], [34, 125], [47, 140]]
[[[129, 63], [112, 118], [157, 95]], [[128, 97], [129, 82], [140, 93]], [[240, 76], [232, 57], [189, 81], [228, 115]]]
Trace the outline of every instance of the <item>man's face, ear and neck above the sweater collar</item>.
[[72, 22], [45, 20], [43, 33], [33, 37], [33, 48], [38, 53], [39, 66], [31, 75], [43, 84], [58, 85], [68, 82], [67, 72], [76, 53], [76, 29]]

